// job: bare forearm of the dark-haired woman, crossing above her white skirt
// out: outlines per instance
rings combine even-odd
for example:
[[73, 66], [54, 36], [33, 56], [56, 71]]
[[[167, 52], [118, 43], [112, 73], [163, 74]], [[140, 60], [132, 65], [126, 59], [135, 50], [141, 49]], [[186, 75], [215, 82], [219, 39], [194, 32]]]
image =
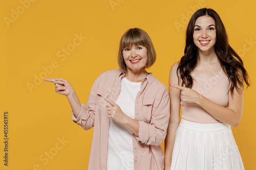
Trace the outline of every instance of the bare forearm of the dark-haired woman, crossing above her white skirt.
[[[223, 123], [236, 127], [239, 125], [242, 113], [234, 111], [230, 108], [226, 108], [206, 99], [203, 95], [200, 96], [197, 104], [201, 106], [210, 115], [220, 120]], [[242, 112], [242, 109], [241, 111]]]

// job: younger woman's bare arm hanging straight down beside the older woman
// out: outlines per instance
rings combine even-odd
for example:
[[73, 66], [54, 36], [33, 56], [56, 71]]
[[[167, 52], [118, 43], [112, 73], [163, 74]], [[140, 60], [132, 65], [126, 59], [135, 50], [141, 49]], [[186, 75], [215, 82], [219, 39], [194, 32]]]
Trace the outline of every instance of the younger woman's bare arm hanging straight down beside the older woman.
[[[175, 63], [170, 68], [169, 84], [178, 84], [178, 77], [176, 74], [178, 63]], [[180, 123], [180, 90], [169, 87], [170, 96], [170, 119], [167, 129], [167, 135], [164, 141], [165, 151], [165, 166], [164, 169], [170, 169], [170, 163], [172, 161], [172, 154], [174, 148], [174, 141], [177, 128]]]

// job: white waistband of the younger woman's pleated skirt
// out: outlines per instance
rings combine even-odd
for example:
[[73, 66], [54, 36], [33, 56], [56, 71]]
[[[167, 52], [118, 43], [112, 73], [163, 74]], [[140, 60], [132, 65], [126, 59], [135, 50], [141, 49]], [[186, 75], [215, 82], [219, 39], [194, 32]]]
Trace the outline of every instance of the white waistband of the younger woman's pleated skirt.
[[181, 119], [180, 127], [199, 132], [217, 132], [231, 129], [231, 126], [225, 123], [198, 124], [194, 122], [189, 122], [187, 120], [184, 120], [183, 118]]

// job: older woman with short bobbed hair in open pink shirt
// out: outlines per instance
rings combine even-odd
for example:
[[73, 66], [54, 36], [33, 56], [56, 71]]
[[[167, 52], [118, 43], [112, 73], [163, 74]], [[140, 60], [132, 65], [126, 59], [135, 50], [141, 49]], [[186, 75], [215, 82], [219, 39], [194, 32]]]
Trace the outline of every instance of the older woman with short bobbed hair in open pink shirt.
[[74, 122], [94, 127], [88, 169], [163, 169], [164, 140], [169, 120], [166, 87], [146, 71], [156, 53], [148, 34], [130, 29], [121, 38], [120, 69], [103, 72], [94, 82], [86, 105], [65, 79], [54, 82], [66, 95]]

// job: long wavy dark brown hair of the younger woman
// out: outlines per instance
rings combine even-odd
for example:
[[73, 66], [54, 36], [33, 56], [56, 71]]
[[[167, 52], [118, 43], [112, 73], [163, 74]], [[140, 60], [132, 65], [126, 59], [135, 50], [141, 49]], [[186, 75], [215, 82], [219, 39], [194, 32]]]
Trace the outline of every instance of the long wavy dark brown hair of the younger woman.
[[215, 53], [218, 56], [222, 69], [229, 79], [229, 90], [231, 93], [233, 93], [234, 88], [243, 91], [243, 89], [238, 88], [238, 85], [243, 87], [243, 83], [245, 82], [247, 87], [250, 86], [249, 76], [244, 68], [243, 61], [229, 45], [227, 33], [220, 16], [214, 10], [207, 8], [197, 10], [188, 22], [184, 56], [179, 61], [177, 69], [177, 76], [179, 78], [180, 74], [181, 85], [185, 85], [185, 87], [188, 88], [193, 86], [193, 78], [190, 74], [196, 67], [199, 59], [198, 47], [193, 40], [194, 26], [197, 18], [205, 15], [212, 17], [216, 23]]

